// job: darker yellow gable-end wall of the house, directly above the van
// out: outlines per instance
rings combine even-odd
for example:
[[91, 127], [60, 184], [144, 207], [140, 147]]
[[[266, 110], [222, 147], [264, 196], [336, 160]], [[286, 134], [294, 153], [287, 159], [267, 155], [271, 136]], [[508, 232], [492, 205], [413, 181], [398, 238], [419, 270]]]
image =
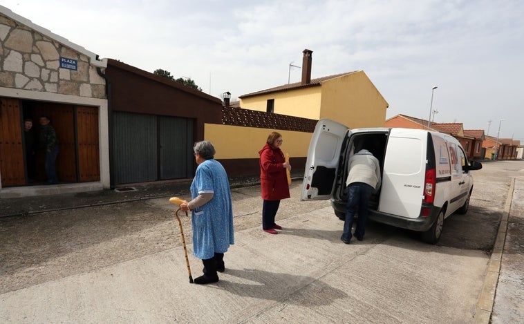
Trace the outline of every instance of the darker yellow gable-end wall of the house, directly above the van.
[[364, 71], [322, 82], [320, 118], [349, 128], [382, 127], [388, 103]]

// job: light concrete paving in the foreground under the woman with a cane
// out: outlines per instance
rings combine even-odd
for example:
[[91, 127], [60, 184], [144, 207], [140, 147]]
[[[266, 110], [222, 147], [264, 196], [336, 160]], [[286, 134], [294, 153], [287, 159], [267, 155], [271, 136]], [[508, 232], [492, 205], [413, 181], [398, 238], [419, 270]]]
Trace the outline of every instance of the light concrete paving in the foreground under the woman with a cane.
[[0, 322], [473, 323], [482, 251], [377, 231], [344, 245], [330, 207], [281, 225], [238, 231], [216, 285], [189, 284], [177, 247], [1, 294]]

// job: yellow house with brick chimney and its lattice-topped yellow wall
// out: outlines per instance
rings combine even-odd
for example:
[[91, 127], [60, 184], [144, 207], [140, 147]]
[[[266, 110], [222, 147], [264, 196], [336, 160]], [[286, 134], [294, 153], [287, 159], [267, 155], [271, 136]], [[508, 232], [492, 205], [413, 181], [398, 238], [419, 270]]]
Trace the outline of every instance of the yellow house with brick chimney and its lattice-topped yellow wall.
[[281, 149], [289, 153], [293, 170], [303, 171], [315, 121], [384, 126], [388, 103], [364, 71], [311, 79], [311, 54], [303, 50], [301, 82], [242, 95], [231, 106], [227, 99], [225, 111], [238, 120], [223, 117], [223, 124], [205, 124], [205, 140], [213, 142], [216, 159], [229, 173], [258, 173], [258, 151], [272, 131], [283, 135]]

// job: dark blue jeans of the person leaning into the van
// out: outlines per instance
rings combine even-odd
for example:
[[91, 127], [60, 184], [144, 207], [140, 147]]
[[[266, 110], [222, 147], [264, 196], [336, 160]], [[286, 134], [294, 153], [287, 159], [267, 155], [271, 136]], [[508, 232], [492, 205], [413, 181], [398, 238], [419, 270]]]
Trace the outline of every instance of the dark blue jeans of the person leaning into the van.
[[373, 187], [362, 182], [355, 182], [350, 184], [346, 191], [348, 193], [348, 202], [346, 203], [346, 220], [344, 220], [344, 233], [342, 238], [344, 240], [351, 239], [351, 227], [353, 226], [353, 218], [358, 211], [357, 228], [355, 229], [355, 236], [363, 238], [366, 230], [366, 221], [368, 220], [368, 202], [373, 193]]

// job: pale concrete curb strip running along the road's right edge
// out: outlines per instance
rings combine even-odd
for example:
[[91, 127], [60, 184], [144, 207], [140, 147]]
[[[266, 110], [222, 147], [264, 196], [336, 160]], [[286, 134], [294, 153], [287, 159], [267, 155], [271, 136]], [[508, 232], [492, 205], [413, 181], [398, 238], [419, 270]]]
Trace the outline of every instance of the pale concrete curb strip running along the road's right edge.
[[500, 274], [500, 264], [502, 263], [502, 256], [504, 251], [504, 243], [506, 241], [507, 225], [509, 220], [509, 208], [512, 204], [513, 191], [515, 188], [515, 178], [513, 178], [509, 185], [509, 191], [504, 205], [504, 211], [498, 226], [498, 233], [493, 247], [492, 256], [489, 258], [487, 264], [487, 273], [484, 279], [484, 284], [478, 297], [478, 303], [475, 312], [475, 323], [489, 324], [492, 318], [493, 305], [495, 303], [495, 294], [498, 283], [498, 275]]

